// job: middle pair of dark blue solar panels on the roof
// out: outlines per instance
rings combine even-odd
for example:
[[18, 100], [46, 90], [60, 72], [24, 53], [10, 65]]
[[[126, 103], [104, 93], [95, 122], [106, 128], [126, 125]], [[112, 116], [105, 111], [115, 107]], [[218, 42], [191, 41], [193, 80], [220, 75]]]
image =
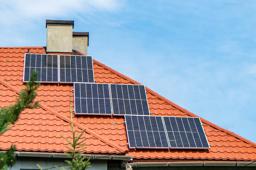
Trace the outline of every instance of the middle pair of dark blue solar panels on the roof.
[[74, 83], [74, 101], [76, 114], [150, 114], [144, 85]]

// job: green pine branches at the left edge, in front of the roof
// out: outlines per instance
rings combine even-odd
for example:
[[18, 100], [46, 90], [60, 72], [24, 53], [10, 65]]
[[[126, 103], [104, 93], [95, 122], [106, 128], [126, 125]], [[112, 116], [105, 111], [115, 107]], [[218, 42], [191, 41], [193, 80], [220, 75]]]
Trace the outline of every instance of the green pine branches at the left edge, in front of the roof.
[[[35, 109], [39, 107], [39, 101], [34, 102], [37, 96], [36, 89], [40, 86], [40, 83], [36, 83], [36, 77], [38, 72], [34, 70], [30, 76], [30, 81], [26, 83], [26, 89], [20, 90], [20, 96], [16, 99], [14, 105], [4, 107], [0, 109], [0, 134], [10, 129], [10, 124], [17, 122], [20, 113], [24, 109]], [[16, 150], [16, 146], [11, 145], [11, 148], [7, 152], [0, 153], [0, 170], [7, 170], [9, 166], [13, 166], [16, 162], [16, 158], [13, 153]]]

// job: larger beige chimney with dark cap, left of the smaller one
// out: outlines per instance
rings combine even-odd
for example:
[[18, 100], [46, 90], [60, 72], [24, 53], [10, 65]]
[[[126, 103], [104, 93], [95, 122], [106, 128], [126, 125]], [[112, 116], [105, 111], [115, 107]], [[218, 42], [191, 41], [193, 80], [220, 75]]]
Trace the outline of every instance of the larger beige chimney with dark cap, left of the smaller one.
[[47, 52], [72, 52], [74, 21], [46, 20]]

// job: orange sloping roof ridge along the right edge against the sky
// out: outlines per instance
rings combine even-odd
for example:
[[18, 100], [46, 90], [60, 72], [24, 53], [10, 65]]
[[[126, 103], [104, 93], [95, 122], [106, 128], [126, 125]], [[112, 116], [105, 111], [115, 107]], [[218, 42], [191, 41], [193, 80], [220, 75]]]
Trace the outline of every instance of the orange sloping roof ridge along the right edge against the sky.
[[[96, 61], [96, 60], [94, 60], [94, 59], [93, 59], [93, 61], [94, 61], [94, 63], [100, 65], [101, 67], [103, 67], [103, 68], [105, 68], [105, 69], [107, 69], [107, 70], [109, 70], [110, 72], [113, 72], [113, 73], [115, 73], [115, 74], [117, 74], [117, 75], [119, 75], [119, 76], [125, 78], [126, 80], [130, 81], [131, 83], [134, 83], [134, 84], [141, 84], [141, 83], [139, 83], [139, 82], [133, 80], [132, 78], [130, 78], [130, 77], [128, 77], [128, 76], [125, 76], [124, 74], [121, 74], [121, 73], [119, 73], [118, 71], [116, 71], [116, 70], [114, 70], [114, 69], [112, 69], [112, 68], [106, 66], [105, 64], [103, 64], [103, 63], [101, 63], [101, 62], [99, 62], [99, 61]], [[146, 86], [145, 86], [145, 87], [146, 87]], [[248, 140], [248, 139], [245, 139], [244, 137], [241, 137], [240, 135], [237, 135], [236, 133], [231, 132], [231, 131], [229, 131], [229, 130], [227, 130], [227, 129], [223, 129], [222, 127], [220, 127], [220, 126], [218, 126], [218, 125], [216, 125], [216, 124], [214, 124], [214, 123], [212, 123], [212, 122], [209, 122], [208, 120], [205, 120], [204, 118], [201, 118], [200, 116], [197, 116], [197, 115], [195, 115], [194, 113], [191, 113], [190, 111], [188, 111], [188, 110], [186, 110], [186, 109], [180, 107], [179, 105], [177, 105], [177, 104], [173, 103], [172, 101], [166, 99], [165, 97], [163, 97], [163, 96], [161, 96], [160, 94], [154, 92], [153, 90], [149, 89], [148, 87], [146, 87], [146, 91], [148, 91], [148, 92], [150, 92], [151, 94], [157, 96], [159, 99], [164, 100], [165, 102], [167, 102], [168, 104], [172, 105], [173, 107], [176, 107], [176, 108], [179, 109], [180, 111], [189, 114], [190, 116], [199, 117], [200, 120], [201, 120], [202, 122], [204, 122], [205, 124], [209, 124], [210, 126], [216, 128], [216, 129], [219, 129], [220, 131], [223, 131], [223, 132], [225, 132], [225, 133], [227, 133], [227, 134], [229, 134], [229, 135], [232, 135], [232, 136], [234, 136], [234, 137], [236, 137], [236, 138], [238, 138], [238, 139], [241, 139], [241, 140], [243, 140], [244, 142], [246, 142], [246, 143], [248, 143], [248, 144], [251, 144], [252, 146], [256, 147], [256, 144], [255, 144], [254, 142], [252, 142], [252, 141], [250, 141], [250, 140]]]

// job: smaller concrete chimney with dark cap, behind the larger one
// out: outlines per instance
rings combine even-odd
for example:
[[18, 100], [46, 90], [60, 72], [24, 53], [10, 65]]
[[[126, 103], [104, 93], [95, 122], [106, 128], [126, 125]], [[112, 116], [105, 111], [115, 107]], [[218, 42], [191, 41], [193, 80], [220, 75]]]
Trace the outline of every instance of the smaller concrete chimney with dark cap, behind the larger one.
[[73, 32], [73, 50], [77, 50], [87, 55], [87, 47], [89, 45], [89, 33]]

